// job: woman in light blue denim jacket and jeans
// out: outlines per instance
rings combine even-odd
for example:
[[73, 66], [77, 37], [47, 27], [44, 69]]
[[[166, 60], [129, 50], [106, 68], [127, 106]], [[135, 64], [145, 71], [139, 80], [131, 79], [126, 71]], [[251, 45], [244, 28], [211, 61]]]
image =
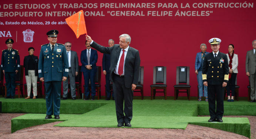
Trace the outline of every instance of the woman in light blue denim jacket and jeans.
[[203, 68], [203, 60], [205, 59], [205, 55], [209, 52], [206, 52], [206, 44], [202, 43], [200, 45], [201, 52], [196, 53], [196, 62], [195, 62], [195, 73], [197, 77], [198, 82], [198, 101], [202, 101], [202, 96], [205, 96], [205, 101], [208, 102], [208, 93], [207, 93], [207, 87], [203, 85], [203, 79], [202, 79], [202, 68]]

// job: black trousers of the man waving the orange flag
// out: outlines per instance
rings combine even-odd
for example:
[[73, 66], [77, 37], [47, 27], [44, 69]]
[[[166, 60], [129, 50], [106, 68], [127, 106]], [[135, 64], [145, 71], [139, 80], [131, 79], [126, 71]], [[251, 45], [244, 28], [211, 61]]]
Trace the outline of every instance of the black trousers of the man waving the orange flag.
[[113, 92], [118, 123], [130, 123], [132, 120], [133, 91], [131, 88], [125, 87], [124, 76], [119, 77], [113, 73]]

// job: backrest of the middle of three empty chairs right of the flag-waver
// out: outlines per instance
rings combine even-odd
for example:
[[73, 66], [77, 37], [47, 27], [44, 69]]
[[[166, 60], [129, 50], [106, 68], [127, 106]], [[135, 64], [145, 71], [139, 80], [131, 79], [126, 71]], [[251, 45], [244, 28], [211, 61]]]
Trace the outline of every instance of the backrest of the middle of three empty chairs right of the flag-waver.
[[166, 67], [156, 66], [153, 73], [153, 84], [166, 84]]

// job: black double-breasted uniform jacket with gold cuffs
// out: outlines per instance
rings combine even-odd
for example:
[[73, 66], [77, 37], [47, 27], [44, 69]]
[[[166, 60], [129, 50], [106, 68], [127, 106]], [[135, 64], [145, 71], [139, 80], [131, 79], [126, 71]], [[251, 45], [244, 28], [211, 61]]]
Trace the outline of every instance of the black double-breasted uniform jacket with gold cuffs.
[[220, 52], [217, 58], [214, 58], [212, 52], [205, 56], [202, 70], [203, 82], [207, 81], [208, 85], [222, 85], [229, 80], [229, 64], [227, 55]]

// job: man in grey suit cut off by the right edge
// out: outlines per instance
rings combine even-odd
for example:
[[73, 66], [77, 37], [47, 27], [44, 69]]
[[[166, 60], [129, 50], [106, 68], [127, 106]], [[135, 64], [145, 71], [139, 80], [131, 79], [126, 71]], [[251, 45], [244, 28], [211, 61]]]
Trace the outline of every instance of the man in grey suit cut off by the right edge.
[[256, 40], [252, 41], [253, 50], [247, 51], [246, 54], [246, 62], [245, 62], [245, 71], [246, 75], [249, 77], [250, 81], [250, 88], [251, 94], [250, 102], [256, 102], [256, 89], [255, 89], [255, 82], [256, 82]]

